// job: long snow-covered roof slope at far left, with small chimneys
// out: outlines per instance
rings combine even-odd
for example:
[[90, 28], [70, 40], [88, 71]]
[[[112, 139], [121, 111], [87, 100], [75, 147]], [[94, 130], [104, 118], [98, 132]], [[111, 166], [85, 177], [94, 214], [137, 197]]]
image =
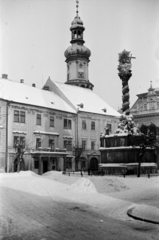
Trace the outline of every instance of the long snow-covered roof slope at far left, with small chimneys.
[[0, 98], [27, 105], [76, 113], [76, 110], [54, 92], [3, 78], [0, 78]]

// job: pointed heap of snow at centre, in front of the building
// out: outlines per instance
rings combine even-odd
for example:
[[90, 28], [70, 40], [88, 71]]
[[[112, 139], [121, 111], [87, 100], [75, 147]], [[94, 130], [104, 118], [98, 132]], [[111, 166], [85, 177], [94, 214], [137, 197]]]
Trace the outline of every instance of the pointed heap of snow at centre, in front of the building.
[[67, 188], [73, 192], [97, 193], [94, 184], [86, 178], [81, 178]]

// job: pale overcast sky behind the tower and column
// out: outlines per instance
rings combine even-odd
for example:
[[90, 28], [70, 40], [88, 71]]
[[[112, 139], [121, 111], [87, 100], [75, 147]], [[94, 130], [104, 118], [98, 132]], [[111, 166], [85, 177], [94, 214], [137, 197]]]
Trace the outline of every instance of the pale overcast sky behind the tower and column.
[[[0, 74], [41, 88], [50, 76], [66, 81], [64, 51], [69, 47], [75, 0], [0, 0]], [[159, 0], [79, 0], [91, 50], [89, 80], [114, 109], [122, 104], [118, 53], [132, 60], [130, 105], [150, 81], [159, 87]]]

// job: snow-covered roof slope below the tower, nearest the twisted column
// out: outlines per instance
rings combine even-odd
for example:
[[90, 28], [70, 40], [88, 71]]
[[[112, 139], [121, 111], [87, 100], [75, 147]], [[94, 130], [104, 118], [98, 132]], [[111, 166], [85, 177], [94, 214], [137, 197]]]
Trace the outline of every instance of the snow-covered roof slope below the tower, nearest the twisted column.
[[[52, 81], [52, 80], [50, 80]], [[102, 115], [119, 117], [120, 113], [110, 107], [92, 90], [64, 83], [53, 82], [59, 91], [73, 104], [76, 109], [82, 112], [90, 112]], [[46, 83], [47, 84], [47, 83]], [[83, 107], [80, 107], [80, 105]], [[104, 111], [106, 109], [106, 111]]]

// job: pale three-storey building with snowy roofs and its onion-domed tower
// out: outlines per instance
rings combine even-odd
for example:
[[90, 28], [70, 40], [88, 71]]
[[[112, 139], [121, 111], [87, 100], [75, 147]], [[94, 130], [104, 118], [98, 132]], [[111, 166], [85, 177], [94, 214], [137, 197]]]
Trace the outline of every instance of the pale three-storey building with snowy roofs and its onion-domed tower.
[[[90, 50], [78, 16], [71, 24], [71, 46], [65, 51], [67, 81], [49, 77], [43, 89], [24, 80], [0, 79], [0, 168], [17, 171], [16, 145], [25, 153], [21, 170], [98, 170], [100, 135], [117, 128], [120, 114], [93, 92], [89, 81]], [[13, 91], [14, 89], [14, 91]]]

